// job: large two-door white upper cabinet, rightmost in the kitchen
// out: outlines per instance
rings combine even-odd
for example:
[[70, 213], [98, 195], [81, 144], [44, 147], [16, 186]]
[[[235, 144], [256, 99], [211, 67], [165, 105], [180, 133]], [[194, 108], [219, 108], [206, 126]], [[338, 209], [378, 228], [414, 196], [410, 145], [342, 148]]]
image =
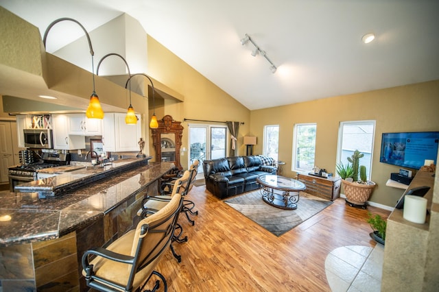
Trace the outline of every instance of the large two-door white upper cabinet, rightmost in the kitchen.
[[141, 117], [136, 125], [125, 123], [125, 113], [106, 112], [102, 129], [102, 144], [106, 152], [139, 151]]

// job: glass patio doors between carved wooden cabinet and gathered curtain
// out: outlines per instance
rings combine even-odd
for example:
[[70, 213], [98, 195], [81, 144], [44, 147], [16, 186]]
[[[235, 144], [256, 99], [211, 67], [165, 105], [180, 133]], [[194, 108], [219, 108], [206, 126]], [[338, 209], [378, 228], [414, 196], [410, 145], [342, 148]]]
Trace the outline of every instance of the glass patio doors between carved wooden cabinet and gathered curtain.
[[189, 125], [189, 165], [200, 161], [197, 179], [204, 178], [203, 160], [226, 157], [227, 126]]

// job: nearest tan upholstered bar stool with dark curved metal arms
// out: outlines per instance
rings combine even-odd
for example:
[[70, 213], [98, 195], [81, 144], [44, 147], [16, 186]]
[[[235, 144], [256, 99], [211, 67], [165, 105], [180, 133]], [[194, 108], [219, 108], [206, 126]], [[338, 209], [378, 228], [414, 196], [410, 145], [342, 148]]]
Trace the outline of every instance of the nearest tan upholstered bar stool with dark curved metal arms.
[[[106, 249], [97, 247], [85, 252], [82, 273], [88, 287], [99, 291], [132, 291], [150, 280], [153, 274], [167, 287], [165, 278], [154, 268], [171, 244], [181, 206], [182, 197], [176, 193], [166, 206], [142, 219], [135, 230], [130, 230]], [[90, 255], [96, 258], [88, 262]]]

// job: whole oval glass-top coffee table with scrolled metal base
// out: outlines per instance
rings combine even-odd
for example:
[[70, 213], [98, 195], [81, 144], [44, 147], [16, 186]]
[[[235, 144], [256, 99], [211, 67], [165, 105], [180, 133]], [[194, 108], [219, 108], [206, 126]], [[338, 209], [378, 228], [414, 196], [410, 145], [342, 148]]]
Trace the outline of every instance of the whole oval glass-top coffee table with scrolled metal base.
[[299, 192], [307, 188], [302, 182], [281, 175], [261, 175], [257, 182], [262, 186], [263, 202], [286, 210], [296, 210]]

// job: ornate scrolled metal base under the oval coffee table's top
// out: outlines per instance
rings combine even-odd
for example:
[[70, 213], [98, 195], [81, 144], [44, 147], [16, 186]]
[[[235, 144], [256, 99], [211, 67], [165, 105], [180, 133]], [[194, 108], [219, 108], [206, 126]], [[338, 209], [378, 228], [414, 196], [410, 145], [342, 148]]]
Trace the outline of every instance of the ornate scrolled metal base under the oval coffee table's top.
[[285, 210], [296, 210], [299, 202], [298, 191], [278, 191], [268, 186], [260, 188], [263, 202]]

